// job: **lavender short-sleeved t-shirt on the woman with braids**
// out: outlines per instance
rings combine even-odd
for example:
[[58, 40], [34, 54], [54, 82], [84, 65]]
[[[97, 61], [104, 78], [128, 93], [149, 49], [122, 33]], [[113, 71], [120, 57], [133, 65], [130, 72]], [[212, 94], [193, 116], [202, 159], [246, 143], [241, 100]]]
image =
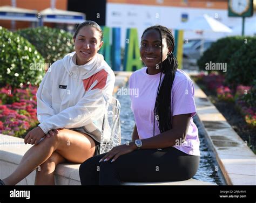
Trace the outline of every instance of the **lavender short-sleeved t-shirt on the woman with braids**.
[[[153, 119], [156, 119], [153, 110], [160, 79], [160, 73], [149, 75], [146, 73], [146, 69], [147, 67], [139, 69], [129, 79], [131, 109], [134, 113], [140, 139], [153, 136]], [[162, 81], [163, 79], [164, 74], [162, 74]], [[196, 115], [194, 85], [190, 77], [180, 69], [177, 69], [173, 81], [171, 102], [172, 116], [191, 113], [185, 142], [177, 142], [173, 147], [188, 155], [200, 156], [198, 129], [192, 118]], [[154, 130], [154, 135], [160, 134], [156, 120]]]

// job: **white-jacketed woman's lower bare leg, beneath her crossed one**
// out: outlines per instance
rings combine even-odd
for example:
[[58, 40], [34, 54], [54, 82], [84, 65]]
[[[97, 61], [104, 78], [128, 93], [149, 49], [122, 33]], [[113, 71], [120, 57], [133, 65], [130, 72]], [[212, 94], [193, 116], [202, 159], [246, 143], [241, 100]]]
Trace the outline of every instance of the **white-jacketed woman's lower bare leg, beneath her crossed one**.
[[65, 162], [65, 158], [58, 152], [53, 152], [50, 158], [36, 169], [35, 185], [55, 185], [56, 166], [63, 162]]

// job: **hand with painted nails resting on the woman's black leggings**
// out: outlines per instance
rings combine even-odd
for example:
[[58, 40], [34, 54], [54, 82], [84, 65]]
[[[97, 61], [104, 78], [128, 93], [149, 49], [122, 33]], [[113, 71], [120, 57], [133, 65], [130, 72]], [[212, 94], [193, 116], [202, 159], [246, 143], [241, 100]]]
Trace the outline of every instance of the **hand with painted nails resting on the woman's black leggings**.
[[136, 149], [137, 147], [133, 142], [129, 143], [129, 145], [122, 144], [119, 146], [115, 146], [102, 159], [100, 159], [99, 162], [102, 162], [102, 161], [107, 162], [111, 158], [113, 158], [111, 162], [114, 162], [119, 156], [125, 155], [126, 153], [130, 153]]

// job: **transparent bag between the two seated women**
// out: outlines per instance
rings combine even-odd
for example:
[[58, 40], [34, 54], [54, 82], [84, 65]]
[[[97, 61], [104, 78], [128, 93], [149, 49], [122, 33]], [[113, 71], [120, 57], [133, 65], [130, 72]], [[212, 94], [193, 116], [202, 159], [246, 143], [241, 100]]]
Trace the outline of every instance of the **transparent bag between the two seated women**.
[[111, 95], [103, 94], [105, 100], [100, 154], [109, 152], [121, 144], [120, 102]]

